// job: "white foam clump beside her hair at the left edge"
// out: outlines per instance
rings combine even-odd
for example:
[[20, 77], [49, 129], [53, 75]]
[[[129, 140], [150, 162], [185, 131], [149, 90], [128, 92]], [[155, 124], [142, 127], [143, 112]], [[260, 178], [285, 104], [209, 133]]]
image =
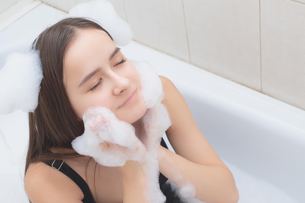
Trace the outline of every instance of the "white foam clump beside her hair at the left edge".
[[0, 70], [0, 112], [33, 112], [38, 106], [42, 77], [37, 52], [8, 55]]

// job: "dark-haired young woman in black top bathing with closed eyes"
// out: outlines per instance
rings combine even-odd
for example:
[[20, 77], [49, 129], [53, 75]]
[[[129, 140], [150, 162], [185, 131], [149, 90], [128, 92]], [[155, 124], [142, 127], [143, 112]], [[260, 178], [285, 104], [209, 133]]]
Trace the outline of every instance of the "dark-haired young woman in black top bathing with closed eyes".
[[[25, 189], [32, 203], [146, 203], [142, 163], [106, 167], [76, 153], [71, 142], [84, 132], [82, 115], [92, 106], [110, 109], [138, 128], [147, 111], [140, 78], [107, 31], [84, 18], [66, 18], [42, 32], [38, 50], [43, 79], [38, 107], [29, 113], [30, 142]], [[172, 126], [166, 131], [176, 153], [162, 142], [160, 187], [167, 202], [180, 201], [167, 179], [179, 185], [178, 170], [208, 203], [236, 203], [238, 191], [228, 167], [197, 128], [187, 103], [172, 82], [160, 76]], [[140, 130], [136, 130], [140, 133]], [[168, 167], [168, 160], [172, 166]], [[164, 176], [163, 176], [163, 175]], [[166, 177], [166, 178], [165, 178]]]

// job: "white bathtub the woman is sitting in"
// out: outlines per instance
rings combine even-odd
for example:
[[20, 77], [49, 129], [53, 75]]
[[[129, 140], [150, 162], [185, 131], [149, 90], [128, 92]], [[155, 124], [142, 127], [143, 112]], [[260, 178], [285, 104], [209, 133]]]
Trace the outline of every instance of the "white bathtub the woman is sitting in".
[[[26, 50], [63, 15], [45, 4], [31, 7], [0, 32], [0, 67], [8, 53]], [[149, 61], [182, 92], [198, 126], [231, 168], [239, 203], [305, 202], [305, 111], [135, 42], [122, 52]], [[22, 186], [27, 139], [25, 113], [0, 115], [0, 196], [5, 202], [27, 202]]]

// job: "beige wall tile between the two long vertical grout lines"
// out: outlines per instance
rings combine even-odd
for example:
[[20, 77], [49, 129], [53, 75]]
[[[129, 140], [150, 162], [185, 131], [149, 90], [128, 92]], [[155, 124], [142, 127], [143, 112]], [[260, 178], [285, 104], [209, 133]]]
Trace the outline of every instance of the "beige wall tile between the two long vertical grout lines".
[[258, 0], [183, 0], [191, 63], [261, 90]]

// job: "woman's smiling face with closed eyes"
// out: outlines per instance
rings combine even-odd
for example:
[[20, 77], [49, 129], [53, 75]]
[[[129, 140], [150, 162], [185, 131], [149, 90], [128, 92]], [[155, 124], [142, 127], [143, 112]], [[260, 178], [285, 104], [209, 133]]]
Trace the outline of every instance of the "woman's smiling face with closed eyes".
[[106, 107], [128, 123], [147, 110], [136, 69], [102, 30], [79, 32], [65, 54], [63, 81], [80, 120], [94, 106]]

